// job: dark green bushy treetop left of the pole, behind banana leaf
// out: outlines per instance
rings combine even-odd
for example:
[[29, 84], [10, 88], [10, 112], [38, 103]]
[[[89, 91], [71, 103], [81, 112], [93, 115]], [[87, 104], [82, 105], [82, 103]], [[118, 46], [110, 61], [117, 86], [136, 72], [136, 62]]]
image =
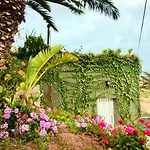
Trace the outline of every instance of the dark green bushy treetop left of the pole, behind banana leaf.
[[41, 50], [47, 49], [48, 45], [44, 43], [42, 36], [26, 35], [23, 47], [19, 47], [14, 54], [23, 60], [28, 60], [30, 56], [35, 57]]

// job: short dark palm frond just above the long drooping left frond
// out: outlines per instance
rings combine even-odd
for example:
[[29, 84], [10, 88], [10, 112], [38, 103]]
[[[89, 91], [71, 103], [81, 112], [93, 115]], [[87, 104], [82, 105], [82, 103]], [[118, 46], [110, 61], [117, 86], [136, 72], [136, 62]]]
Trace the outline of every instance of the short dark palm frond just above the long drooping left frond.
[[38, 3], [41, 6], [41, 8], [51, 12], [51, 7], [47, 1], [45, 1], [45, 0], [26, 0], [26, 4], [30, 3], [30, 1]]

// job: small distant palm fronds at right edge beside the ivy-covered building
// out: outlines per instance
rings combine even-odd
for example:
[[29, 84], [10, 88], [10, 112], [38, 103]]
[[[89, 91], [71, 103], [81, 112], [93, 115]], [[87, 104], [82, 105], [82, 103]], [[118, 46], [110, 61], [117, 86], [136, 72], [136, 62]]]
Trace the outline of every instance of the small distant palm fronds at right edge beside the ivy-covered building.
[[144, 72], [144, 76], [141, 76], [141, 88], [150, 90], [150, 73]]

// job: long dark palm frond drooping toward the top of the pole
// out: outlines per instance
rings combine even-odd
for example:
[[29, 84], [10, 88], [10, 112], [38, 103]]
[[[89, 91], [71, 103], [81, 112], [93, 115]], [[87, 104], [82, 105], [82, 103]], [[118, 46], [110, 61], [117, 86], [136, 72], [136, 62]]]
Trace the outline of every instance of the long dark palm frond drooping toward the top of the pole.
[[36, 12], [38, 12], [42, 17], [43, 19], [55, 30], [55, 31], [58, 31], [58, 29], [56, 28], [54, 22], [53, 22], [53, 19], [52, 17], [49, 15], [49, 12], [46, 11], [46, 10], [43, 10], [43, 8], [41, 7], [40, 4], [38, 4], [37, 2], [34, 2], [34, 1], [27, 1], [26, 4], [28, 6], [30, 6], [33, 10], [35, 10]]

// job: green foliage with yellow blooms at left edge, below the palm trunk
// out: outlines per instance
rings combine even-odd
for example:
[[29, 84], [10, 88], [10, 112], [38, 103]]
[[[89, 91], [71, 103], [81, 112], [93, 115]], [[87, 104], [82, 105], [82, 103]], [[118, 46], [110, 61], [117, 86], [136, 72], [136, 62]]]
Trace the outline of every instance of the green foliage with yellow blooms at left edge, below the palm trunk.
[[23, 61], [12, 55], [8, 57], [7, 61], [7, 70], [0, 71], [0, 105], [2, 102], [11, 102], [16, 88], [25, 78], [24, 68], [26, 64]]

